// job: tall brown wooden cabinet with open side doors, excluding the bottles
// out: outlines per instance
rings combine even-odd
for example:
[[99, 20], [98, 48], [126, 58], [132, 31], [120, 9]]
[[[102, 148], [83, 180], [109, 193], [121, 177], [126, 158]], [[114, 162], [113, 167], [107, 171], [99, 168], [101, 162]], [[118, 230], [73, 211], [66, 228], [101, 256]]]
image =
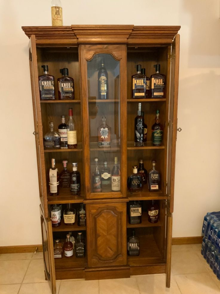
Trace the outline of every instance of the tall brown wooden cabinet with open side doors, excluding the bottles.
[[[22, 27], [30, 38], [29, 62], [32, 86], [34, 134], [38, 162], [39, 196], [41, 199], [42, 240], [45, 260], [45, 277], [56, 293], [55, 280], [85, 278], [125, 278], [131, 275], [166, 273], [166, 287], [170, 285], [172, 212], [174, 199], [175, 142], [177, 133], [179, 26], [133, 25], [72, 25], [63, 27]], [[48, 65], [55, 77], [55, 100], [40, 100], [38, 76], [41, 66]], [[105, 64], [108, 73], [108, 99], [99, 99], [98, 74]], [[166, 76], [165, 98], [132, 99], [131, 76], [136, 65], [146, 68], [146, 75], [155, 73], [154, 64], [161, 65]], [[56, 80], [59, 69], [67, 67], [74, 78], [75, 99], [58, 100]], [[141, 102], [145, 123], [148, 126], [147, 142], [134, 146], [134, 119]], [[68, 119], [68, 108], [73, 108], [77, 129], [77, 149], [44, 150], [43, 135], [49, 121], [57, 131], [61, 115]], [[160, 110], [164, 128], [163, 143], [153, 146], [151, 126], [155, 111]], [[99, 146], [98, 128], [105, 117], [111, 130], [110, 146]], [[109, 131], [110, 132], [110, 131]], [[58, 196], [49, 196], [47, 174], [51, 158], [62, 170], [62, 160], [78, 163], [81, 173], [81, 195], [72, 196], [68, 188], [60, 189]], [[106, 161], [110, 170], [115, 158], [120, 169], [120, 186], [102, 185], [94, 188], [94, 159], [99, 168]], [[147, 185], [141, 192], [127, 190], [127, 177], [132, 165], [142, 158], [147, 170], [151, 161], [157, 161], [161, 174], [159, 191], [150, 192]], [[112, 188], [113, 187], [113, 188]], [[141, 224], [129, 224], [129, 201], [142, 204]], [[156, 200], [159, 221], [148, 221], [147, 206]], [[86, 207], [86, 226], [54, 228], [50, 221], [51, 204], [80, 203]], [[135, 230], [140, 239], [140, 255], [127, 255], [127, 238]], [[54, 259], [53, 240], [65, 240], [72, 231], [76, 237], [82, 231], [86, 244], [85, 257], [75, 255]], [[165, 285], [164, 285], [165, 287]]]

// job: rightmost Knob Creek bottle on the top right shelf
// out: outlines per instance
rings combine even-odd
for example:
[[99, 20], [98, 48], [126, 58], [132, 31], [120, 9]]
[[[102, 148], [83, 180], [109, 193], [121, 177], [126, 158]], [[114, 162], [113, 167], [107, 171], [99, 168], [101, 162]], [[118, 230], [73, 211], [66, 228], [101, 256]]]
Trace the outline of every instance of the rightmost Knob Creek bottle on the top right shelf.
[[165, 75], [160, 73], [160, 64], [155, 64], [154, 67], [156, 73], [150, 76], [151, 98], [165, 98]]

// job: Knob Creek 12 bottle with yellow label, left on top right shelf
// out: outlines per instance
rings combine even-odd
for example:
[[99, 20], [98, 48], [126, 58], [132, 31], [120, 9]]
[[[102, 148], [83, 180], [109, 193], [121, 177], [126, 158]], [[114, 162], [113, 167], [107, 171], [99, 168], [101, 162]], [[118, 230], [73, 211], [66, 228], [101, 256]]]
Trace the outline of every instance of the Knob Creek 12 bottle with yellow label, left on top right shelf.
[[146, 76], [141, 73], [141, 65], [137, 64], [137, 73], [132, 76], [132, 98], [145, 98]]

